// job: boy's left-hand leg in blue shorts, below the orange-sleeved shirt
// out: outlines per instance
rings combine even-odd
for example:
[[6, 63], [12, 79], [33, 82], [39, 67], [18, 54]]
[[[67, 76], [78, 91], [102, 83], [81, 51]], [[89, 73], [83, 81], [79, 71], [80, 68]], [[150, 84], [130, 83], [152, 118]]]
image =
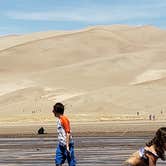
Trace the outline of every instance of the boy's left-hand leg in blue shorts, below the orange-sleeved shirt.
[[62, 166], [65, 160], [66, 160], [65, 148], [58, 144], [55, 155], [56, 166]]

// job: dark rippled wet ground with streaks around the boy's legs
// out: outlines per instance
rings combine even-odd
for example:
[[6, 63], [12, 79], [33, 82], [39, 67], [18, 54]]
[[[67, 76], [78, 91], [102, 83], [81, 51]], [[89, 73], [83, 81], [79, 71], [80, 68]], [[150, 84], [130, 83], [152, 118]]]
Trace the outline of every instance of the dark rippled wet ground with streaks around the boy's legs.
[[[121, 166], [131, 153], [144, 146], [151, 137], [146, 132], [144, 135], [75, 136], [77, 165]], [[0, 165], [53, 166], [56, 144], [56, 138], [49, 135], [0, 138]], [[159, 160], [157, 165], [164, 166], [165, 162]]]

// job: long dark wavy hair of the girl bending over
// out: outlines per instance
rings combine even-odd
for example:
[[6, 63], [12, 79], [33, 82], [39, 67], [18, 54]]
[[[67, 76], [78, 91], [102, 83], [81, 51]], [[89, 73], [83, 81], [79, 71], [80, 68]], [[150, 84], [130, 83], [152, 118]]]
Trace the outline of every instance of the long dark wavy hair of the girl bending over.
[[164, 154], [164, 144], [166, 143], [166, 127], [161, 127], [157, 130], [154, 138], [149, 141], [146, 145], [155, 146], [155, 150], [159, 158], [162, 160], [166, 160], [165, 154]]

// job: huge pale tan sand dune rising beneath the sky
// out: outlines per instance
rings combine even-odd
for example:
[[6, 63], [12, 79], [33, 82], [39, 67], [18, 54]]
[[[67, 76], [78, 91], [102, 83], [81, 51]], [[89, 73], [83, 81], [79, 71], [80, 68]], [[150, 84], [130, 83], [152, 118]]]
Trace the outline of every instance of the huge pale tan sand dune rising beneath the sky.
[[165, 43], [165, 30], [125, 25], [1, 37], [1, 123], [51, 123], [57, 101], [75, 122], [165, 120]]

